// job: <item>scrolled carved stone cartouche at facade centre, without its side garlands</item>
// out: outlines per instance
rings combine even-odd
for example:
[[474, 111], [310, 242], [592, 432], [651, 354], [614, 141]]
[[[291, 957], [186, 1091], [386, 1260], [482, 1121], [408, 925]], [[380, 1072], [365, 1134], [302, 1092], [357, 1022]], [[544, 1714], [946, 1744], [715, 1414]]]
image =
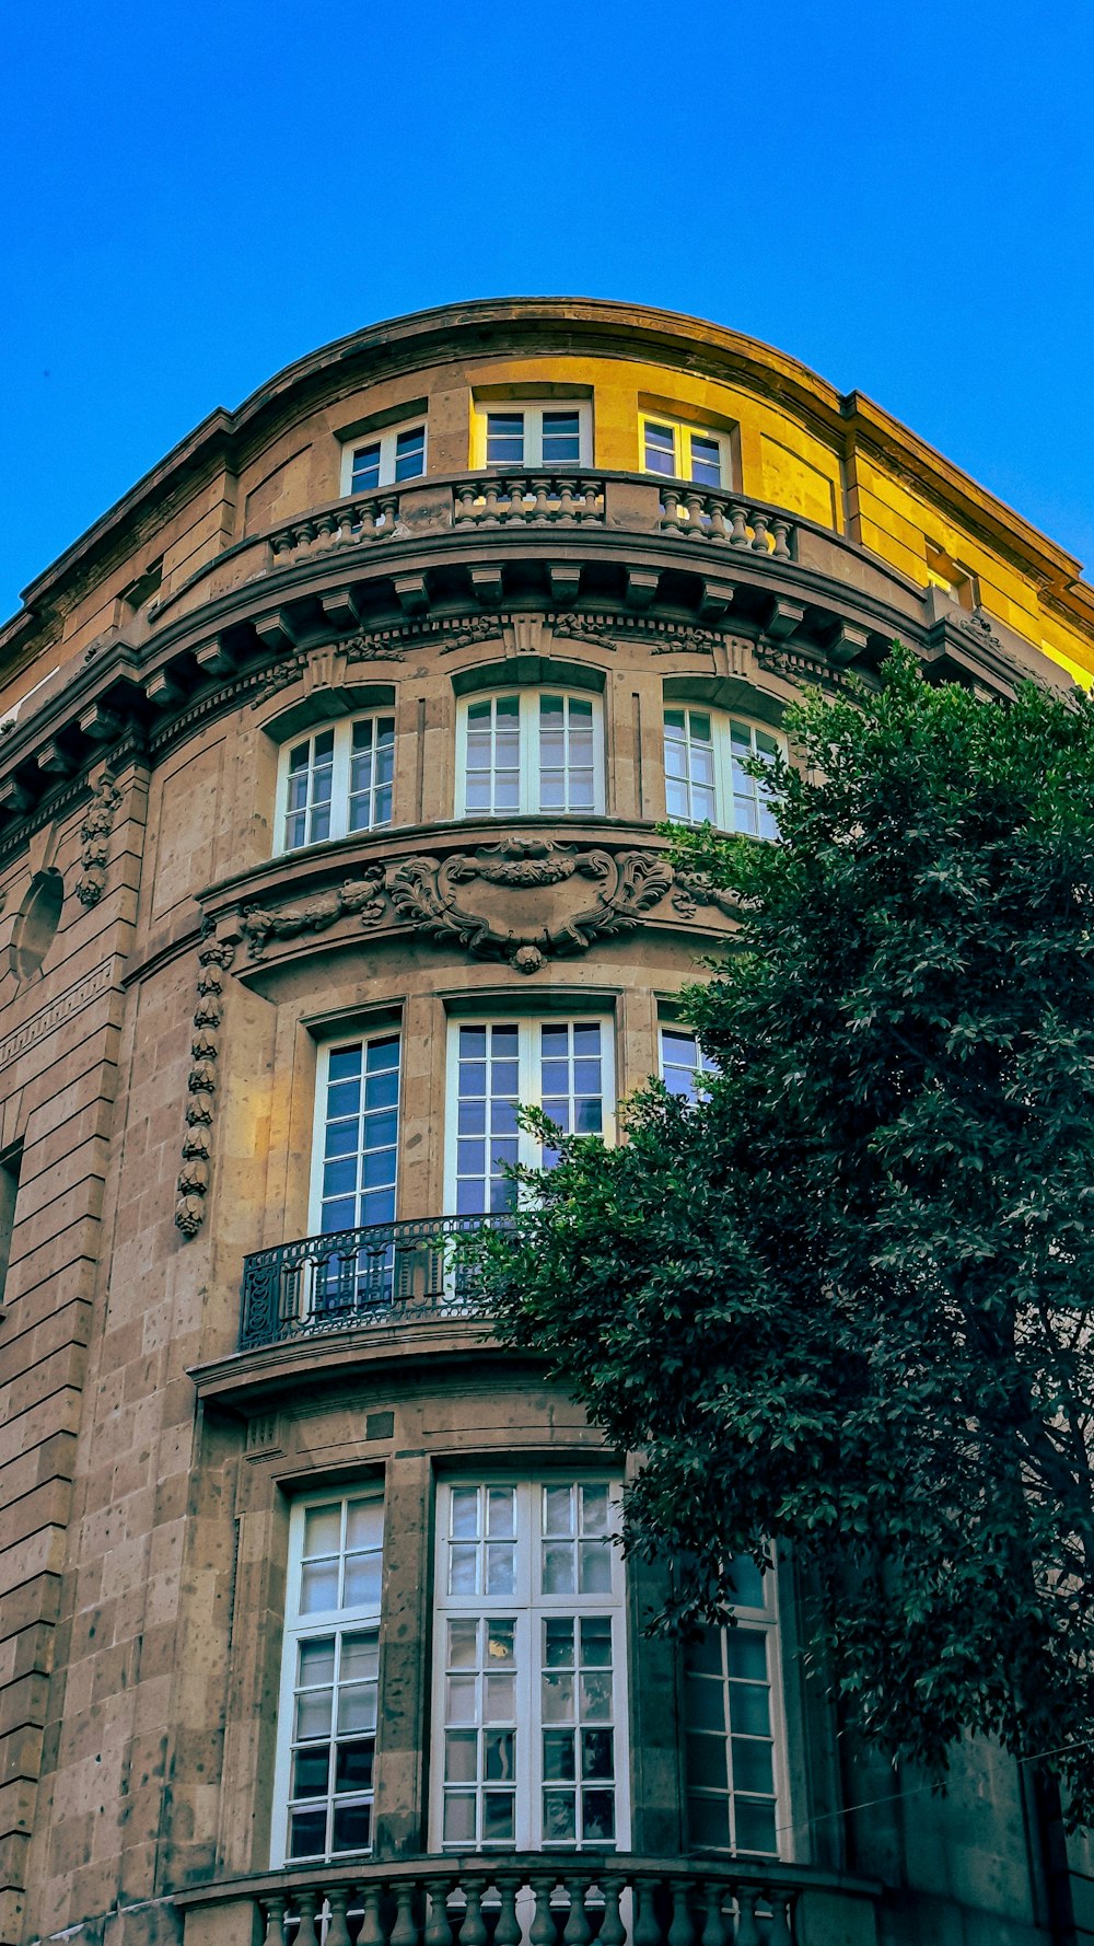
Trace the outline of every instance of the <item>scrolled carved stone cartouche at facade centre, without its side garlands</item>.
[[[596, 885], [592, 899], [588, 882]], [[629, 930], [672, 883], [672, 866], [658, 852], [502, 839], [446, 860], [409, 858], [393, 872], [389, 893], [399, 919], [426, 938], [535, 973], [547, 955], [584, 954], [596, 938]], [[557, 897], [563, 885], [578, 897]], [[491, 897], [492, 887], [504, 897]], [[520, 893], [533, 893], [524, 922]]]

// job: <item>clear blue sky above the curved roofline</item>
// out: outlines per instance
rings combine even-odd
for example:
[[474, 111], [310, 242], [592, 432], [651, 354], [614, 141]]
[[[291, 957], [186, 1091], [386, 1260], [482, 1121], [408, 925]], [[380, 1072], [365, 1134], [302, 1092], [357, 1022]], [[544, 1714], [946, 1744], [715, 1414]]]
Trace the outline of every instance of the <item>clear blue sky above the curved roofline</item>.
[[214, 405], [467, 296], [858, 387], [1094, 578], [1094, 8], [18, 8], [0, 615]]

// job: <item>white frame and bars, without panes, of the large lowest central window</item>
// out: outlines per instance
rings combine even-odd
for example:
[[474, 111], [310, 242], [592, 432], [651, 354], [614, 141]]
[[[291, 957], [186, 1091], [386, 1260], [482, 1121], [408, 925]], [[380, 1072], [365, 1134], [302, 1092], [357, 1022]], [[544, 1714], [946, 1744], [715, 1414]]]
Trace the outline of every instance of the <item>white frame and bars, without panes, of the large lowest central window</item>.
[[[528, 1477], [516, 1471], [483, 1469], [475, 1475], [457, 1475], [438, 1483], [436, 1518], [436, 1561], [434, 1561], [434, 1609], [432, 1609], [432, 1753], [430, 1753], [430, 1853], [456, 1856], [475, 1851], [477, 1855], [504, 1858], [508, 1853], [543, 1851], [559, 1856], [574, 1851], [619, 1851], [631, 1843], [631, 1748], [629, 1748], [629, 1705], [627, 1705], [627, 1605], [625, 1605], [625, 1565], [621, 1549], [605, 1541], [611, 1557], [611, 1590], [582, 1594], [543, 1594], [543, 1489], [545, 1487], [607, 1487], [609, 1528], [617, 1530], [621, 1506], [621, 1481], [611, 1467], [596, 1469], [582, 1461], [580, 1467], [561, 1467], [555, 1475], [537, 1473]], [[514, 1596], [459, 1596], [448, 1594], [448, 1535], [452, 1491], [459, 1487], [514, 1487], [516, 1504], [516, 1594]], [[543, 1843], [543, 1712], [541, 1712], [541, 1642], [543, 1621], [551, 1615], [609, 1617], [611, 1621], [611, 1677], [613, 1707], [611, 1726], [615, 1732], [615, 1839], [580, 1839]], [[477, 1847], [465, 1841], [444, 1843], [444, 1734], [446, 1728], [446, 1664], [448, 1642], [446, 1625], [454, 1619], [514, 1619], [516, 1621], [516, 1835], [514, 1841], [481, 1841]], [[580, 1738], [580, 1730], [576, 1730]]]

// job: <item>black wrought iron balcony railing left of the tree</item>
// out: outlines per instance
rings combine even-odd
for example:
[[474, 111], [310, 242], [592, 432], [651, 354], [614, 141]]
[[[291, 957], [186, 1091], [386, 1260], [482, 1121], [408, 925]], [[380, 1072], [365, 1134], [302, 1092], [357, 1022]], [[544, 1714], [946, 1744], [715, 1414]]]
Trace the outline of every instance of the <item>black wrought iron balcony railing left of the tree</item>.
[[508, 1216], [426, 1216], [306, 1236], [243, 1259], [239, 1351], [378, 1323], [475, 1317], [483, 1298], [459, 1238]]

